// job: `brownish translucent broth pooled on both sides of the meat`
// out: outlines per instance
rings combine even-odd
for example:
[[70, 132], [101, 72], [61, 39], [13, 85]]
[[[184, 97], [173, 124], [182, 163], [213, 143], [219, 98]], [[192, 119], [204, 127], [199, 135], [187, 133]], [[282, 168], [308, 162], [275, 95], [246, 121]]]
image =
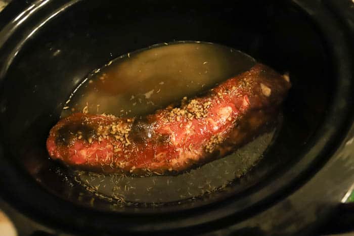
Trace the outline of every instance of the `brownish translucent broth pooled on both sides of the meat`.
[[[62, 117], [93, 114], [140, 116], [183, 97], [193, 97], [255, 64], [226, 46], [202, 42], [162, 43], [123, 55], [87, 77], [72, 93]], [[118, 202], [181, 202], [220, 190], [246, 173], [269, 147], [275, 129], [235, 153], [175, 176], [131, 177], [74, 171], [87, 190]]]

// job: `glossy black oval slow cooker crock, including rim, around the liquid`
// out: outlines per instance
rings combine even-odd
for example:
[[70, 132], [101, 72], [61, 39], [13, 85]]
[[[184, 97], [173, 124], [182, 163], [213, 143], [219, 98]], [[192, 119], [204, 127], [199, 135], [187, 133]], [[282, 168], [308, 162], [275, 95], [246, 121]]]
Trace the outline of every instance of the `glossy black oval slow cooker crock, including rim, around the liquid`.
[[[351, 1], [14, 0], [0, 14], [1, 196], [57, 232], [208, 235], [318, 233], [354, 180]], [[293, 87], [267, 155], [226, 191], [162, 207], [81, 196], [45, 141], [93, 69], [179, 40], [241, 50]], [[16, 222], [20, 224], [21, 222]]]

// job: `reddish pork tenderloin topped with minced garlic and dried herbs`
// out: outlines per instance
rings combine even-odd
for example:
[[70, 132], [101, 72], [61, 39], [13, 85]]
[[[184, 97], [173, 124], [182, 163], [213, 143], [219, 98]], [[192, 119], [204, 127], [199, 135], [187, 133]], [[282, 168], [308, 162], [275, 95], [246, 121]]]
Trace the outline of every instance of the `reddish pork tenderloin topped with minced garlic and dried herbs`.
[[288, 76], [256, 64], [207, 91], [144, 118], [75, 113], [50, 131], [52, 159], [103, 173], [164, 174], [225, 156], [275, 119]]

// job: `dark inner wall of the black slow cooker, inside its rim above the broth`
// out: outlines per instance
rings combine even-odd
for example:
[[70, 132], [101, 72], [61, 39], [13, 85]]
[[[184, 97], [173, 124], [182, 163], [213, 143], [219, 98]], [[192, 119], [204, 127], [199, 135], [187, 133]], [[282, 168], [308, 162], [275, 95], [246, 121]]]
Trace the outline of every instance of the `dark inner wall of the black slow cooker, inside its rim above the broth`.
[[65, 176], [58, 175], [45, 149], [48, 130], [74, 87], [115, 57], [173, 40], [225, 44], [290, 72], [293, 87], [279, 137], [261, 163], [235, 184], [233, 193], [298, 160], [324, 118], [334, 82], [321, 35], [295, 8], [263, 1], [97, 2], [83, 1], [43, 25], [18, 52], [6, 75], [3, 136], [14, 158], [49, 190], [72, 200], [79, 192], [61, 181]]

